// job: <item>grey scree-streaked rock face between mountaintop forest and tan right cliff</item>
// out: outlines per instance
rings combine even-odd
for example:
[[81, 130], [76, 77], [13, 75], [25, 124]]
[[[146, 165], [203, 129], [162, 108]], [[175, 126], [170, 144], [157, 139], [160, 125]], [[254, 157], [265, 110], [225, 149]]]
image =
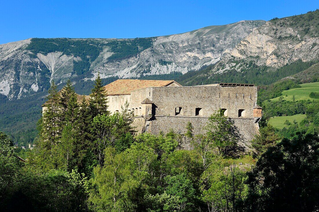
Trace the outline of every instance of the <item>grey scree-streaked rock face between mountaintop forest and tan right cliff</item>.
[[[140, 77], [141, 75], [169, 74], [198, 70], [203, 65], [215, 63], [230, 51], [254, 28], [264, 21], [240, 21], [225, 26], [209, 26], [188, 33], [156, 37], [152, 47], [129, 59], [102, 62], [93, 66], [93, 73], [100, 71], [104, 77]], [[100, 56], [109, 55], [105, 49]]]

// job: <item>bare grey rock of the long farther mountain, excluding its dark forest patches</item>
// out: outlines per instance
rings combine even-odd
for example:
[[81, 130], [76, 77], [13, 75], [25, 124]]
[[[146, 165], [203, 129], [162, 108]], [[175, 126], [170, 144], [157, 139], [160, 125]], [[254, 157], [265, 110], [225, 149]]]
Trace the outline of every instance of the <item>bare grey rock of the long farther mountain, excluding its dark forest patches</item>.
[[[0, 93], [9, 99], [19, 99], [48, 89], [52, 80], [58, 84], [68, 78], [75, 83], [80, 79], [94, 80], [97, 72], [104, 78], [138, 78], [173, 72], [184, 74], [189, 70], [198, 70], [203, 65], [216, 63], [226, 51], [232, 51], [236, 44], [264, 23], [240, 21], [155, 37], [152, 38], [151, 47], [114, 61], [108, 60], [115, 53], [107, 44], [115, 39], [73, 39], [93, 40], [102, 47], [98, 57], [90, 61], [89, 73], [84, 75], [74, 71], [74, 62], [82, 60], [77, 55], [61, 51], [30, 50], [30, 43], [38, 42], [32, 39], [3, 44], [0, 45]], [[126, 40], [129, 42], [130, 39]]]

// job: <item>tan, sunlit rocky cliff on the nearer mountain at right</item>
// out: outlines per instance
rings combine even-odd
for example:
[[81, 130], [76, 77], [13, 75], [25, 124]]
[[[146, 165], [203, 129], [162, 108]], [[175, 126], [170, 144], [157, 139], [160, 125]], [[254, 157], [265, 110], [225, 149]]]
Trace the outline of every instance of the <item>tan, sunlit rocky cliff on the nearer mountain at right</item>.
[[[319, 58], [318, 43], [318, 37], [301, 36], [297, 29], [266, 22], [242, 39], [235, 48], [226, 50], [214, 70], [241, 59], [251, 60], [258, 66], [265, 65], [273, 70], [300, 59], [303, 62], [315, 61]], [[238, 64], [234, 68], [240, 71], [240, 67]], [[228, 69], [225, 67], [220, 71]]]

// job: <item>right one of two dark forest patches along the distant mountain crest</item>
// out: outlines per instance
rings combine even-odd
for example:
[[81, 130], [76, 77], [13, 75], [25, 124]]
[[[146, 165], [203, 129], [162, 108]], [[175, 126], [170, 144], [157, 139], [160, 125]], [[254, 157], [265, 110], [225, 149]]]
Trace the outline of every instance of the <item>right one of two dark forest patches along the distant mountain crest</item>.
[[152, 46], [152, 38], [135, 38], [111, 40], [106, 44], [114, 52], [108, 57], [108, 61], [123, 60], [137, 55], [137, 53]]

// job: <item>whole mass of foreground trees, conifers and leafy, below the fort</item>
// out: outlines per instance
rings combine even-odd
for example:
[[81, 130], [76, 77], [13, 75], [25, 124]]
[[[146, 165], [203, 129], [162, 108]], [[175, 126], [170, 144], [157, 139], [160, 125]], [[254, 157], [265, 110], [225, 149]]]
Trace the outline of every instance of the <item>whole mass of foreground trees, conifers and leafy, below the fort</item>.
[[185, 126], [192, 150], [181, 150], [173, 129], [135, 135], [128, 104], [110, 114], [99, 75], [80, 103], [70, 81], [61, 92], [52, 82], [46, 107], [25, 161], [0, 133], [3, 211], [319, 209], [319, 138], [307, 125], [288, 136], [262, 126], [251, 156], [240, 156], [232, 122], [217, 112], [205, 134]]

